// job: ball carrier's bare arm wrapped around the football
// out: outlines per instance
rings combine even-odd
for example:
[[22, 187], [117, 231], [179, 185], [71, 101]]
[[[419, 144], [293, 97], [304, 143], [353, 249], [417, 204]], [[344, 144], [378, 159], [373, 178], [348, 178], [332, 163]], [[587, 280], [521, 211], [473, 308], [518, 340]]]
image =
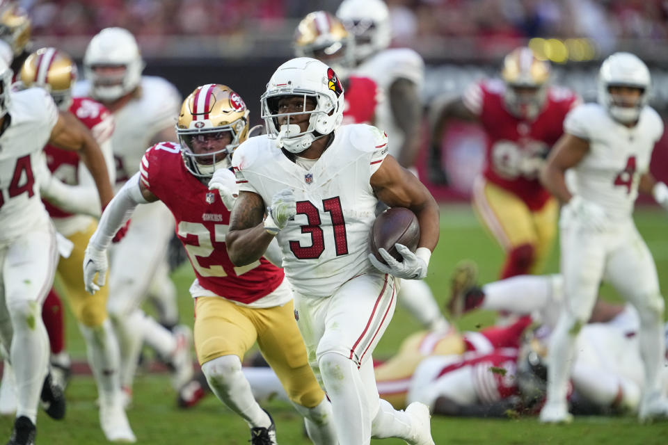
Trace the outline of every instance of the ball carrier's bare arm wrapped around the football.
[[379, 200], [390, 207], [411, 209], [420, 223], [418, 248], [434, 251], [440, 234], [438, 204], [413, 173], [388, 155], [371, 177], [370, 184]]

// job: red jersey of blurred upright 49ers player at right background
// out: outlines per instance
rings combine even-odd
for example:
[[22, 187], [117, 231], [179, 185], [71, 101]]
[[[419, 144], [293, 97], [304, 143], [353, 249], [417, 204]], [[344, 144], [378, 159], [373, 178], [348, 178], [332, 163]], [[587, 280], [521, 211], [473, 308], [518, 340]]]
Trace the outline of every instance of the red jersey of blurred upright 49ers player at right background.
[[487, 134], [487, 159], [484, 177], [520, 197], [531, 210], [539, 210], [548, 201], [550, 193], [538, 178], [507, 175], [495, 163], [504, 162], [505, 156], [546, 156], [564, 133], [564, 118], [580, 103], [578, 95], [562, 87], [550, 87], [546, 102], [533, 120], [516, 118], [504, 105], [505, 85], [500, 79], [476, 83], [463, 95], [465, 106], [478, 116]]

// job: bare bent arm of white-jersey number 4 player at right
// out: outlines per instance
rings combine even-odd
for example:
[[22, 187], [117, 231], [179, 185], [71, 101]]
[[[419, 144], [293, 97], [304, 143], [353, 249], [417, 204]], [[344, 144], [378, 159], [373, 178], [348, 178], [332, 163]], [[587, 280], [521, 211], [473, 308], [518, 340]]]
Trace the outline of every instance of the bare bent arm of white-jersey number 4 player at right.
[[552, 195], [555, 195], [559, 202], [565, 204], [572, 197], [571, 192], [566, 187], [566, 170], [578, 165], [588, 152], [589, 141], [570, 133], [564, 133], [550, 151], [550, 156], [548, 156], [545, 168], [541, 172], [540, 179], [543, 186]]

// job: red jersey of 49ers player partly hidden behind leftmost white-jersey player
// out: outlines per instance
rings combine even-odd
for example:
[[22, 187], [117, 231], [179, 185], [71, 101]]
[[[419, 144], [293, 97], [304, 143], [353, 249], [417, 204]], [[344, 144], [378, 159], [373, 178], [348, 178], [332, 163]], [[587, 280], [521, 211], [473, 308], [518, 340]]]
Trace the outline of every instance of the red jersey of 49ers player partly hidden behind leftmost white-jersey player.
[[[77, 117], [93, 133], [98, 144], [111, 138], [113, 133], [113, 116], [100, 102], [87, 97], [75, 97], [69, 108], [70, 113]], [[65, 184], [79, 184], [79, 154], [63, 150], [53, 145], [44, 147], [47, 155], [47, 167], [57, 179]], [[72, 213], [63, 211], [53, 204], [43, 201], [51, 218], [66, 218]]]

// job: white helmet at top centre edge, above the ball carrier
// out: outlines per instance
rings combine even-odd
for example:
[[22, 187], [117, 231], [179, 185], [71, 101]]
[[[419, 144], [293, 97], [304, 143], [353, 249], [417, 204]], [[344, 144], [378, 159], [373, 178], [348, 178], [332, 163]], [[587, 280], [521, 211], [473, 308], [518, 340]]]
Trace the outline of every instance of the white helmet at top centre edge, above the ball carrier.
[[349, 33], [355, 36], [355, 58], [364, 60], [390, 46], [390, 10], [382, 0], [344, 0], [336, 11]]

